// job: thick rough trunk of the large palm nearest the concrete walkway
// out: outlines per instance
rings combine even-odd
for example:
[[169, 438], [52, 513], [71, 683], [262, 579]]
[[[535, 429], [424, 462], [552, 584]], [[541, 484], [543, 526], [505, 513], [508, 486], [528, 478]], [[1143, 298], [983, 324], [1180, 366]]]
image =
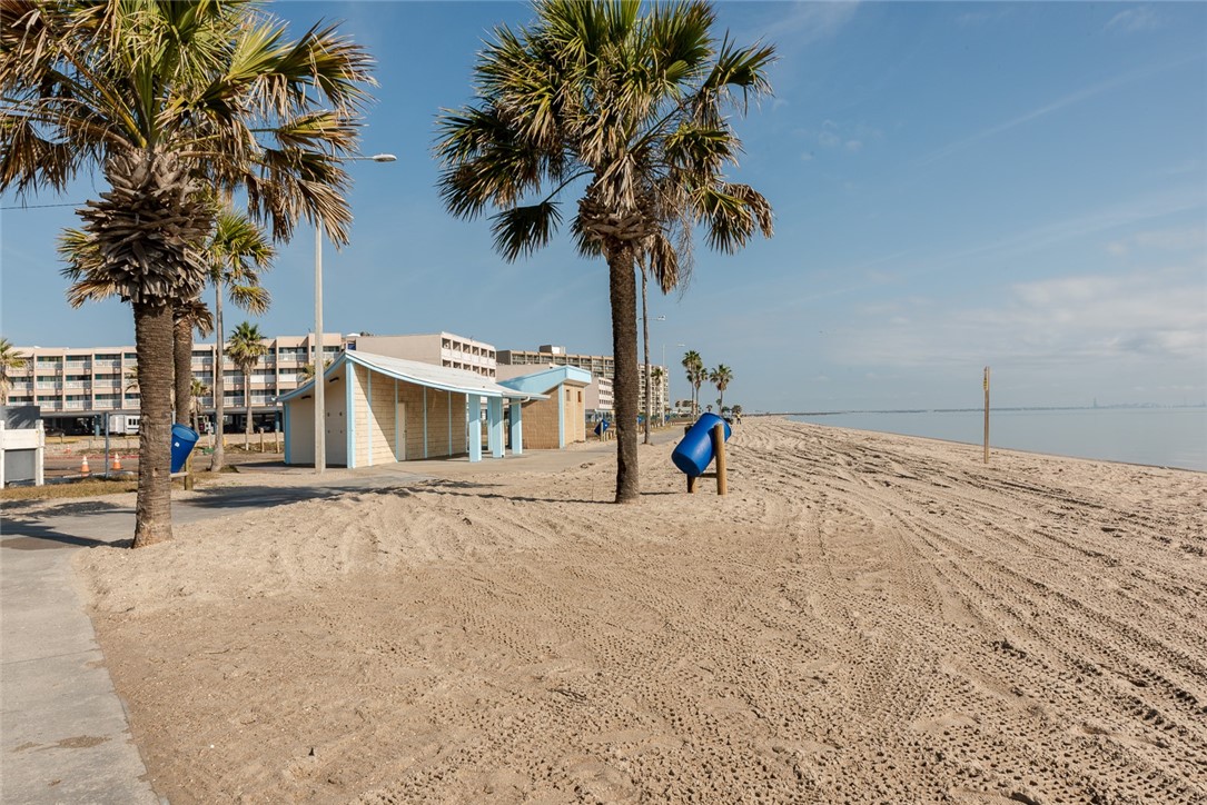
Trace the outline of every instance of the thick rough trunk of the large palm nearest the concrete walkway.
[[134, 304], [139, 360], [139, 492], [134, 547], [171, 539], [171, 305]]

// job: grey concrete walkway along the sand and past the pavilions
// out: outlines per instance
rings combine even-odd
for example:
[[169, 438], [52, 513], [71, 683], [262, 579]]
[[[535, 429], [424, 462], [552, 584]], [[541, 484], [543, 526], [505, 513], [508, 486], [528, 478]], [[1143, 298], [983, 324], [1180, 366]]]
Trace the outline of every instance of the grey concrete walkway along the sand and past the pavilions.
[[[670, 428], [664, 443], [681, 436]], [[311, 469], [247, 465], [229, 486], [211, 486], [173, 501], [173, 520], [191, 523], [239, 509], [333, 497], [432, 478], [559, 472], [614, 454], [616, 443], [521, 456], [413, 461], [389, 467]], [[226, 480], [226, 478], [223, 479]], [[127, 498], [128, 500], [128, 498]], [[158, 805], [130, 737], [124, 705], [71, 566], [80, 548], [124, 547], [134, 509], [104, 498], [64, 500], [46, 509], [13, 508], [0, 520], [0, 801]]]

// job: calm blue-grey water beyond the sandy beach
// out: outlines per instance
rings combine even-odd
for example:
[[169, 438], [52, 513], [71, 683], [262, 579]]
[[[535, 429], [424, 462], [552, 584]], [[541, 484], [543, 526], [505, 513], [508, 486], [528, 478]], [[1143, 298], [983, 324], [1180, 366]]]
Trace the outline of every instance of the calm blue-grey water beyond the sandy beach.
[[[984, 412], [844, 413], [788, 419], [981, 444]], [[1207, 472], [1207, 408], [991, 410], [990, 448]]]

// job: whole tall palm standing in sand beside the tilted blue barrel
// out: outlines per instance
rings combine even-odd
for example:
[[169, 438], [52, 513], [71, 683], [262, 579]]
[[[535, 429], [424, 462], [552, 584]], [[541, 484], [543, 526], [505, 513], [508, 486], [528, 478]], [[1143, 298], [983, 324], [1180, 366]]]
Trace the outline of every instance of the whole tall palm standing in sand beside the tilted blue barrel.
[[441, 193], [460, 217], [495, 208], [495, 247], [515, 259], [549, 243], [558, 197], [582, 188], [571, 232], [581, 253], [608, 267], [616, 500], [636, 502], [635, 268], [640, 258], [655, 273], [676, 267], [696, 226], [725, 252], [770, 234], [766, 199], [722, 171], [740, 150], [729, 106], [770, 89], [774, 48], [715, 39], [704, 0], [645, 17], [635, 0], [535, 10], [531, 25], [495, 29], [476, 66], [478, 105], [441, 115]]

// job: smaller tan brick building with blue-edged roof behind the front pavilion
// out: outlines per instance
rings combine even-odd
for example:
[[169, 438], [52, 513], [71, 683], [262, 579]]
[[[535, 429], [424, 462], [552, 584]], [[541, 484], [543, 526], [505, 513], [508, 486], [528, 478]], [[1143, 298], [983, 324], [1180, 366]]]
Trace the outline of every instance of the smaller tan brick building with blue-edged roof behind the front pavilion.
[[[524, 367], [530, 368], [530, 367]], [[501, 366], [500, 375], [519, 367]], [[514, 374], [498, 385], [533, 395], [527, 402], [512, 402], [512, 416], [524, 420], [524, 447], [532, 450], [564, 449], [571, 442], [587, 441], [585, 392], [591, 373], [573, 366], [550, 366], [540, 372]], [[520, 413], [518, 413], [520, 412]]]

